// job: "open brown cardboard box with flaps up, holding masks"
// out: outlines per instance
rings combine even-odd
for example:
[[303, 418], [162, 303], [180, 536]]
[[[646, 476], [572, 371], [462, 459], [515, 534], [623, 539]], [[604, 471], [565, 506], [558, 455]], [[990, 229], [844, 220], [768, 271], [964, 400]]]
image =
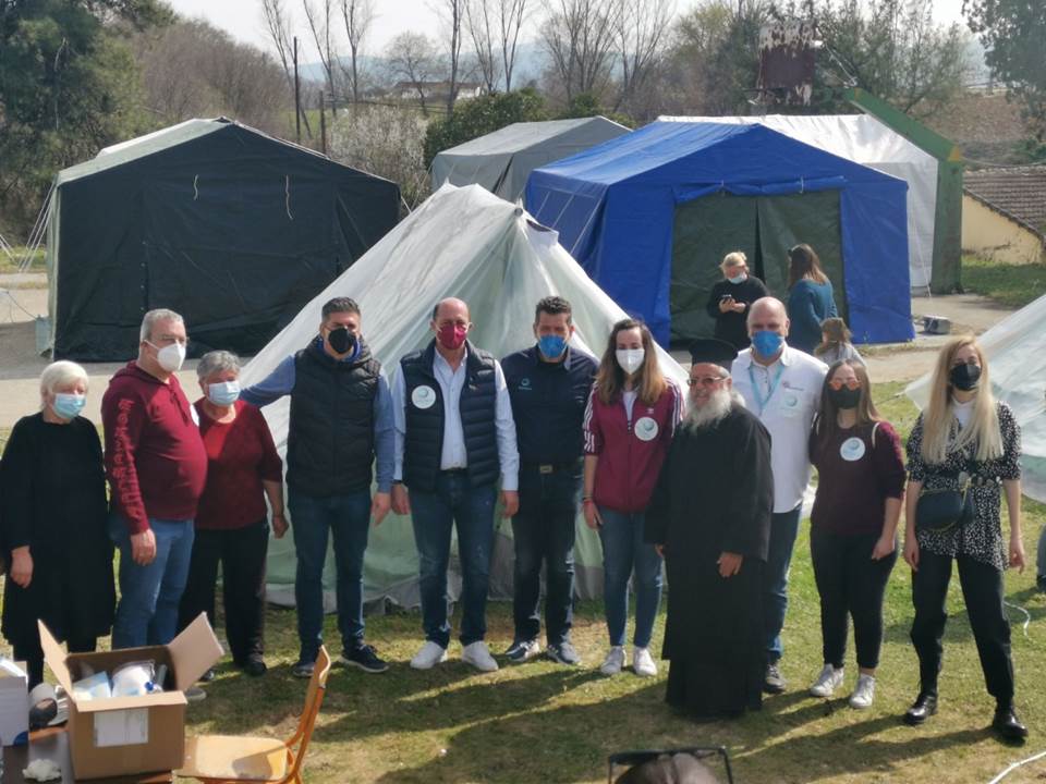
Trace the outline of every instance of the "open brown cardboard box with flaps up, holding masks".
[[[185, 757], [185, 695], [222, 656], [207, 615], [200, 613], [166, 646], [124, 648], [96, 653], [65, 653], [40, 623], [44, 660], [69, 695], [69, 747], [76, 780], [170, 771]], [[127, 662], [167, 664], [171, 690], [142, 697], [78, 701], [73, 683], [88, 664], [95, 672]], [[167, 686], [166, 685], [166, 686]]]

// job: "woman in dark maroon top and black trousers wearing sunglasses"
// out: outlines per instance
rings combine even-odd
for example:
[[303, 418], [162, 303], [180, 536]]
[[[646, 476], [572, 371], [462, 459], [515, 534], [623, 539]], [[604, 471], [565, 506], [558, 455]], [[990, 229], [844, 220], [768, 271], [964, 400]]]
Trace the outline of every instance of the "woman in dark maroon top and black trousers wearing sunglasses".
[[850, 706], [868, 708], [875, 697], [883, 595], [897, 561], [905, 477], [900, 439], [879, 418], [861, 363], [844, 359], [828, 369], [810, 458], [818, 474], [810, 550], [820, 595], [825, 660], [810, 693], [830, 697], [842, 685], [850, 616], [860, 671]]

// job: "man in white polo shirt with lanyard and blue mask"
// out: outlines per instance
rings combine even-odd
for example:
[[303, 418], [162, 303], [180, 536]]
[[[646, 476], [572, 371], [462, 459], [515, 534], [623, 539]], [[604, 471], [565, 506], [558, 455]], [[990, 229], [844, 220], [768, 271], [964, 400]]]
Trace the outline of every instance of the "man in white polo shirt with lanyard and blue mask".
[[756, 299], [749, 309], [747, 322], [752, 347], [741, 352], [733, 363], [733, 388], [770, 432], [774, 517], [764, 571], [767, 666], [763, 688], [769, 694], [780, 694], [786, 686], [778, 662], [788, 609], [788, 567], [799, 530], [803, 493], [810, 482], [811, 424], [820, 405], [820, 389], [828, 366], [790, 348], [784, 342], [788, 315], [779, 299]]

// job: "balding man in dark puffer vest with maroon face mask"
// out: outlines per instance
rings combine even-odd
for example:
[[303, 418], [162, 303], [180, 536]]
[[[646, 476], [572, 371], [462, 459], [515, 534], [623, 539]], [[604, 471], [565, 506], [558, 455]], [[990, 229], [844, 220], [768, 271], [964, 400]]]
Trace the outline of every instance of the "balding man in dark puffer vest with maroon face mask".
[[440, 302], [430, 327], [435, 339], [400, 360], [392, 390], [392, 509], [413, 516], [425, 629], [425, 645], [411, 666], [428, 670], [447, 659], [447, 565], [457, 525], [462, 660], [492, 672], [498, 664], [483, 638], [499, 475], [504, 516], [514, 515], [520, 503], [512, 404], [500, 364], [466, 340], [472, 322], [465, 303]]

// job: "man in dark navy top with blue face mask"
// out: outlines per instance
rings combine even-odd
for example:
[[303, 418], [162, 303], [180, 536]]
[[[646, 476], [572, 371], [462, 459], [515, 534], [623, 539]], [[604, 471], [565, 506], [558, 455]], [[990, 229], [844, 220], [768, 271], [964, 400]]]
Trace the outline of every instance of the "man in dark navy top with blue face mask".
[[501, 360], [520, 445], [520, 512], [512, 518], [515, 634], [506, 651], [515, 663], [542, 650], [537, 635], [543, 562], [548, 656], [560, 664], [581, 662], [570, 642], [574, 525], [582, 485], [582, 420], [597, 365], [567, 345], [573, 334], [570, 303], [545, 297], [534, 314], [537, 345]]

